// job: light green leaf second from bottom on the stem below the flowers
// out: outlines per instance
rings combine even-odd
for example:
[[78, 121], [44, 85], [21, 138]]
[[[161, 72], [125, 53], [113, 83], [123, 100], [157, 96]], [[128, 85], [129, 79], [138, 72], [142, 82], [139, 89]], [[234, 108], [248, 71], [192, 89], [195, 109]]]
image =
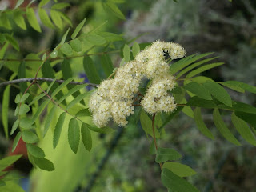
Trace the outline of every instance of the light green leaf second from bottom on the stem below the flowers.
[[172, 171], [181, 178], [197, 174], [190, 166], [183, 165], [179, 162], [165, 162], [162, 168]]

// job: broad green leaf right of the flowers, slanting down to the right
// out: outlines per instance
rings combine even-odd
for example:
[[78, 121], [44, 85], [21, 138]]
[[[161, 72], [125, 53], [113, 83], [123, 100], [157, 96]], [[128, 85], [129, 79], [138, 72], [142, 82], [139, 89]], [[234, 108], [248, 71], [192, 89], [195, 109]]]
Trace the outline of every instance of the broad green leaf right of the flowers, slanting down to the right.
[[207, 81], [202, 84], [219, 102], [232, 106], [232, 100], [226, 90], [216, 82]]

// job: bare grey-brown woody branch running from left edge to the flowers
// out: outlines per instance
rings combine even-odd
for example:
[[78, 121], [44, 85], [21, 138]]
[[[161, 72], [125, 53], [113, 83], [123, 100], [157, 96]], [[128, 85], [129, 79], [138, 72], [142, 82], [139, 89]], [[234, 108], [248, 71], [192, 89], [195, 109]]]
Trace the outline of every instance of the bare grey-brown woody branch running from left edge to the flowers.
[[[37, 81], [40, 81], [40, 82], [53, 82], [54, 80], [55, 80], [54, 78], [37, 78]], [[34, 82], [34, 78], [18, 78], [18, 79], [14, 79], [14, 80], [8, 81], [8, 82], [1, 82], [0, 87], [7, 86], [10, 84], [16, 84], [16, 83], [20, 83], [20, 82]], [[55, 82], [58, 82], [61, 84], [62, 82], [65, 82], [65, 80], [57, 79], [57, 80], [55, 80]], [[87, 82], [70, 82], [70, 84], [72, 84], [72, 85], [87, 84], [87, 86], [93, 86], [93, 87], [98, 86], [97, 84], [87, 83]]]

